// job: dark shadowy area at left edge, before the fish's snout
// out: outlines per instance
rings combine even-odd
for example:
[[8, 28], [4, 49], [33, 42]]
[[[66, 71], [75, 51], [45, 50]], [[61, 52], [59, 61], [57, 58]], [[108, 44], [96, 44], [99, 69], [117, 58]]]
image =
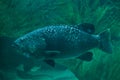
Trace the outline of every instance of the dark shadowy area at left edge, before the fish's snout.
[[14, 70], [25, 58], [11, 46], [14, 38], [0, 37], [0, 70]]

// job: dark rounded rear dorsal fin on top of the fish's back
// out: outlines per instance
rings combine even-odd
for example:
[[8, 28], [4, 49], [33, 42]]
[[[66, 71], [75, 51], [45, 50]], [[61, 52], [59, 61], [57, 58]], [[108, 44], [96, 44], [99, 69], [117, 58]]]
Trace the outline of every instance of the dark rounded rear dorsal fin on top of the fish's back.
[[95, 26], [91, 23], [82, 23], [75, 26], [75, 28], [80, 29], [86, 33], [94, 34], [95, 33]]

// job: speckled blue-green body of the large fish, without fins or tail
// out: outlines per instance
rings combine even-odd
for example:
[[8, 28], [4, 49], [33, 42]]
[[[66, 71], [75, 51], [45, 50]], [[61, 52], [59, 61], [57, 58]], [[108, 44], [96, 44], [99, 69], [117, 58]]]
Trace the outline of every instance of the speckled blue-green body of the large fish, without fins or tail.
[[[67, 25], [59, 25], [34, 30], [18, 38], [15, 44], [28, 54], [57, 59], [80, 56], [97, 47], [99, 42], [95, 35]], [[46, 51], [51, 53], [45, 53]]]

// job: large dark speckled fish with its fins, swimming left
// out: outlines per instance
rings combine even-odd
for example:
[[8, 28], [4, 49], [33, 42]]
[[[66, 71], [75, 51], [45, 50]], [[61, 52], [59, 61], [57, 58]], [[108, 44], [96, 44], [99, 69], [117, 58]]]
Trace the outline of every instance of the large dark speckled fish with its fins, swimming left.
[[92, 34], [94, 30], [91, 30], [94, 28], [79, 29], [80, 26], [88, 28], [89, 24], [78, 27], [57, 25], [39, 28], [16, 39], [13, 46], [21, 51], [22, 55], [43, 60], [51, 66], [55, 66], [56, 59], [79, 58], [91, 61], [93, 53], [89, 50], [94, 48], [109, 54], [113, 52], [110, 29], [95, 35]]

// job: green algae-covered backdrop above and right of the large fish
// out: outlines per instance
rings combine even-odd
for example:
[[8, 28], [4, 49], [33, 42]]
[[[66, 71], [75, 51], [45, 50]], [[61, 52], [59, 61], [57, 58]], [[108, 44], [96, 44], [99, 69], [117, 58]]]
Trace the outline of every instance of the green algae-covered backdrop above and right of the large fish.
[[[84, 22], [94, 24], [96, 34], [111, 29], [113, 54], [94, 49], [91, 62], [77, 59], [58, 62], [67, 66], [79, 80], [120, 80], [119, 0], [0, 0], [0, 36], [17, 38], [48, 25]], [[4, 75], [9, 77], [10, 73], [12, 80], [19, 80], [14, 71]]]

